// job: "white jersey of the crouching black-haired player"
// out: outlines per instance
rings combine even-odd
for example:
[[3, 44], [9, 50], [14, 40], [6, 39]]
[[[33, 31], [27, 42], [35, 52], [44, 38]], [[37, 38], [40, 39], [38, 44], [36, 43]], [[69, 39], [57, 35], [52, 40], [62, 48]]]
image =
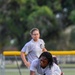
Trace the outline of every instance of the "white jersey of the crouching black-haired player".
[[49, 66], [43, 69], [40, 67], [39, 59], [33, 60], [30, 66], [30, 71], [37, 71], [40, 75], [61, 75], [61, 70], [58, 65], [53, 63], [51, 69], [49, 68]]

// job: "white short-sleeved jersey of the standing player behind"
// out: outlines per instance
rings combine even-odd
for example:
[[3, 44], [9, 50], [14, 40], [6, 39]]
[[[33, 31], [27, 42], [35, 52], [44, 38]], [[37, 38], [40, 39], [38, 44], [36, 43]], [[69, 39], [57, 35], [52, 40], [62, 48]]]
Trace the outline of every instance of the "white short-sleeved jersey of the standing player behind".
[[21, 51], [27, 54], [27, 59], [31, 63], [34, 59], [40, 56], [44, 45], [45, 43], [42, 39], [39, 39], [37, 42], [32, 39], [24, 45]]

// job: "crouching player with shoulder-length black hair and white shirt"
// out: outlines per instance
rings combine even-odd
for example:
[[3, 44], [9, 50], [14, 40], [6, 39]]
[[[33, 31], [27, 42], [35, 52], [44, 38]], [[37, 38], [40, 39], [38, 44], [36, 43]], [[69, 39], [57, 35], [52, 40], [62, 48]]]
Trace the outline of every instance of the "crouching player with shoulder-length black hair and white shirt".
[[43, 52], [38, 59], [33, 60], [30, 75], [35, 75], [36, 71], [40, 75], [61, 75], [59, 66], [53, 63], [52, 55], [49, 52]]

